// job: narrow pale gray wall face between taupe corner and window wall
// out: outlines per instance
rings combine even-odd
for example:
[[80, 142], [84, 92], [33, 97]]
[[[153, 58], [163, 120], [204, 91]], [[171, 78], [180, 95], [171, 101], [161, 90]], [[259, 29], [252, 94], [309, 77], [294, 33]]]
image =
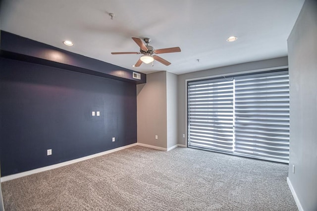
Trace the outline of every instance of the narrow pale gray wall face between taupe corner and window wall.
[[177, 75], [166, 72], [167, 148], [177, 144]]

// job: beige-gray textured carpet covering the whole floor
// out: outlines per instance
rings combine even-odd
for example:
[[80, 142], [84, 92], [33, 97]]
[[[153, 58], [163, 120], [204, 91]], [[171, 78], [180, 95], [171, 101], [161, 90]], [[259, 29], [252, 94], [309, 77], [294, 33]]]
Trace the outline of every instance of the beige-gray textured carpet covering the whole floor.
[[2, 183], [6, 211], [295, 211], [288, 165], [132, 147]]

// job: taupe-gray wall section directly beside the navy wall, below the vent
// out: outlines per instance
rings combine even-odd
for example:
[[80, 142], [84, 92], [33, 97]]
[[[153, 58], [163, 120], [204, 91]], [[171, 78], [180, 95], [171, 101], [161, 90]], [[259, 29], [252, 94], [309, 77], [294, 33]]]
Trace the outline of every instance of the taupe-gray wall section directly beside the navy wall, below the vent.
[[166, 122], [166, 72], [148, 74], [147, 83], [137, 85], [138, 143], [167, 148]]

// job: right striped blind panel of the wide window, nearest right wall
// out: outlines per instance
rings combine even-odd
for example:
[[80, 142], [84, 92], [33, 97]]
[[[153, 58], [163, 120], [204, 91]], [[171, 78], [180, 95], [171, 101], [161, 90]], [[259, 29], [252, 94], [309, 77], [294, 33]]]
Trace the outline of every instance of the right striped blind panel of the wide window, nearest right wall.
[[288, 162], [288, 74], [235, 79], [235, 154]]

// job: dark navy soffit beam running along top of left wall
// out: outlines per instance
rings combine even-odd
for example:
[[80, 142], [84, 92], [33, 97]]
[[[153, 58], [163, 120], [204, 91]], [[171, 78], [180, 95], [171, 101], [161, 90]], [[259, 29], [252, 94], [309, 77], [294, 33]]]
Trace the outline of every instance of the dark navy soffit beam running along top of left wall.
[[133, 70], [104, 61], [71, 53], [53, 46], [24, 38], [9, 32], [0, 32], [0, 56], [20, 61], [42, 64], [70, 71], [100, 76], [123, 82], [146, 83], [146, 74], [141, 80], [132, 77]]

